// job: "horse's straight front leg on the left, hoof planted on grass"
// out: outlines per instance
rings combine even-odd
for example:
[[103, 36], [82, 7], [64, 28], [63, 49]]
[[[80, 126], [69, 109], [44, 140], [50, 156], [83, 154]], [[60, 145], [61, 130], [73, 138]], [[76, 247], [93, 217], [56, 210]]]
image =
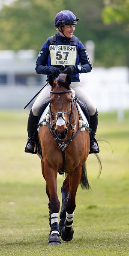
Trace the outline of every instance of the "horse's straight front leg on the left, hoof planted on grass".
[[51, 213], [51, 231], [48, 237], [48, 243], [50, 245], [60, 245], [61, 240], [59, 238], [60, 230], [58, 222], [60, 202], [57, 196], [57, 171], [51, 167], [47, 160], [44, 162], [44, 175], [50, 197]]

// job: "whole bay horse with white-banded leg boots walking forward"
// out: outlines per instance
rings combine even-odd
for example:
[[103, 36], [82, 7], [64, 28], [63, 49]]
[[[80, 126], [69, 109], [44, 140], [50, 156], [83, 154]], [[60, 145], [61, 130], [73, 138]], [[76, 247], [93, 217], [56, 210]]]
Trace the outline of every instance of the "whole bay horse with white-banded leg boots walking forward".
[[[48, 236], [49, 245], [60, 245], [72, 240], [75, 196], [79, 183], [82, 188], [89, 189], [85, 162], [89, 155], [89, 130], [79, 127], [79, 114], [70, 88], [69, 75], [60, 74], [54, 80], [49, 76], [50, 109], [45, 118], [45, 125], [40, 125], [39, 142], [42, 148], [42, 175], [46, 181], [46, 193], [49, 203]], [[60, 202], [57, 195], [57, 173], [66, 173], [66, 179], [61, 187], [62, 207], [60, 223], [58, 213]]]

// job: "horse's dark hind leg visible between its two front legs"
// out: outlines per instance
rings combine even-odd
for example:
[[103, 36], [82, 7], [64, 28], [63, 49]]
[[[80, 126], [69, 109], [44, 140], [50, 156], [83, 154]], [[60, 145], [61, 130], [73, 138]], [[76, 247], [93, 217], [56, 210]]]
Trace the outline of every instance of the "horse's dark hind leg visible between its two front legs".
[[63, 186], [61, 187], [61, 194], [62, 194], [62, 206], [60, 210], [60, 222], [59, 222], [60, 233], [66, 219], [66, 203], [69, 198], [69, 175], [67, 175], [66, 179], [63, 182]]

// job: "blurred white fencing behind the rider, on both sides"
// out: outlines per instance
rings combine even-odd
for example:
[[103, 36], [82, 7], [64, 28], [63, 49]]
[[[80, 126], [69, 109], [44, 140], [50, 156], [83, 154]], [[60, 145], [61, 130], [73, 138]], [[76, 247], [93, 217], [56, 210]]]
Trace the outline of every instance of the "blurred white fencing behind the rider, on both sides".
[[[93, 68], [90, 73], [81, 74], [80, 80], [99, 111], [119, 110], [122, 116], [122, 110], [129, 109], [128, 68]], [[0, 109], [23, 109], [40, 89], [41, 86], [31, 85], [0, 86]]]

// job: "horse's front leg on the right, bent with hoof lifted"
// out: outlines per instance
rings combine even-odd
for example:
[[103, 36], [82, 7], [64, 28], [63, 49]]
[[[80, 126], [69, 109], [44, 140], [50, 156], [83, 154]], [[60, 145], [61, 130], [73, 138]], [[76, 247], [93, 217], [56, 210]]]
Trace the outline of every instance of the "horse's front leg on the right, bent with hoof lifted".
[[61, 229], [61, 238], [64, 241], [72, 240], [73, 233], [74, 233], [72, 225], [73, 225], [74, 210], [76, 207], [75, 197], [76, 197], [78, 185], [81, 180], [81, 170], [82, 170], [82, 166], [79, 165], [71, 173], [71, 176], [69, 178], [69, 199], [66, 203], [66, 219], [64, 222], [64, 226]]

